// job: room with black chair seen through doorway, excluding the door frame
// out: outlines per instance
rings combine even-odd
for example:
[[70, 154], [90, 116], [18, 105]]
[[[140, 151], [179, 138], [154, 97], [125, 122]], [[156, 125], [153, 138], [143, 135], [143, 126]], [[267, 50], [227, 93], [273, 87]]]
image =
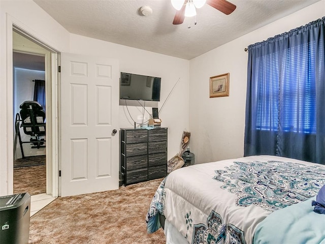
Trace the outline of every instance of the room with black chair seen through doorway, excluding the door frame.
[[[14, 34], [13, 38], [15, 46], [22, 45], [27, 41], [17, 35]], [[23, 40], [24, 42], [22, 42]], [[14, 51], [14, 194], [22, 192], [28, 192], [30, 195], [46, 193], [45, 89], [45, 56]], [[37, 116], [38, 120], [41, 121], [30, 119], [32, 117], [29, 116], [28, 106], [30, 105], [40, 105], [38, 107], [32, 106], [31, 112], [44, 115]], [[38, 122], [38, 127], [31, 122]]]

